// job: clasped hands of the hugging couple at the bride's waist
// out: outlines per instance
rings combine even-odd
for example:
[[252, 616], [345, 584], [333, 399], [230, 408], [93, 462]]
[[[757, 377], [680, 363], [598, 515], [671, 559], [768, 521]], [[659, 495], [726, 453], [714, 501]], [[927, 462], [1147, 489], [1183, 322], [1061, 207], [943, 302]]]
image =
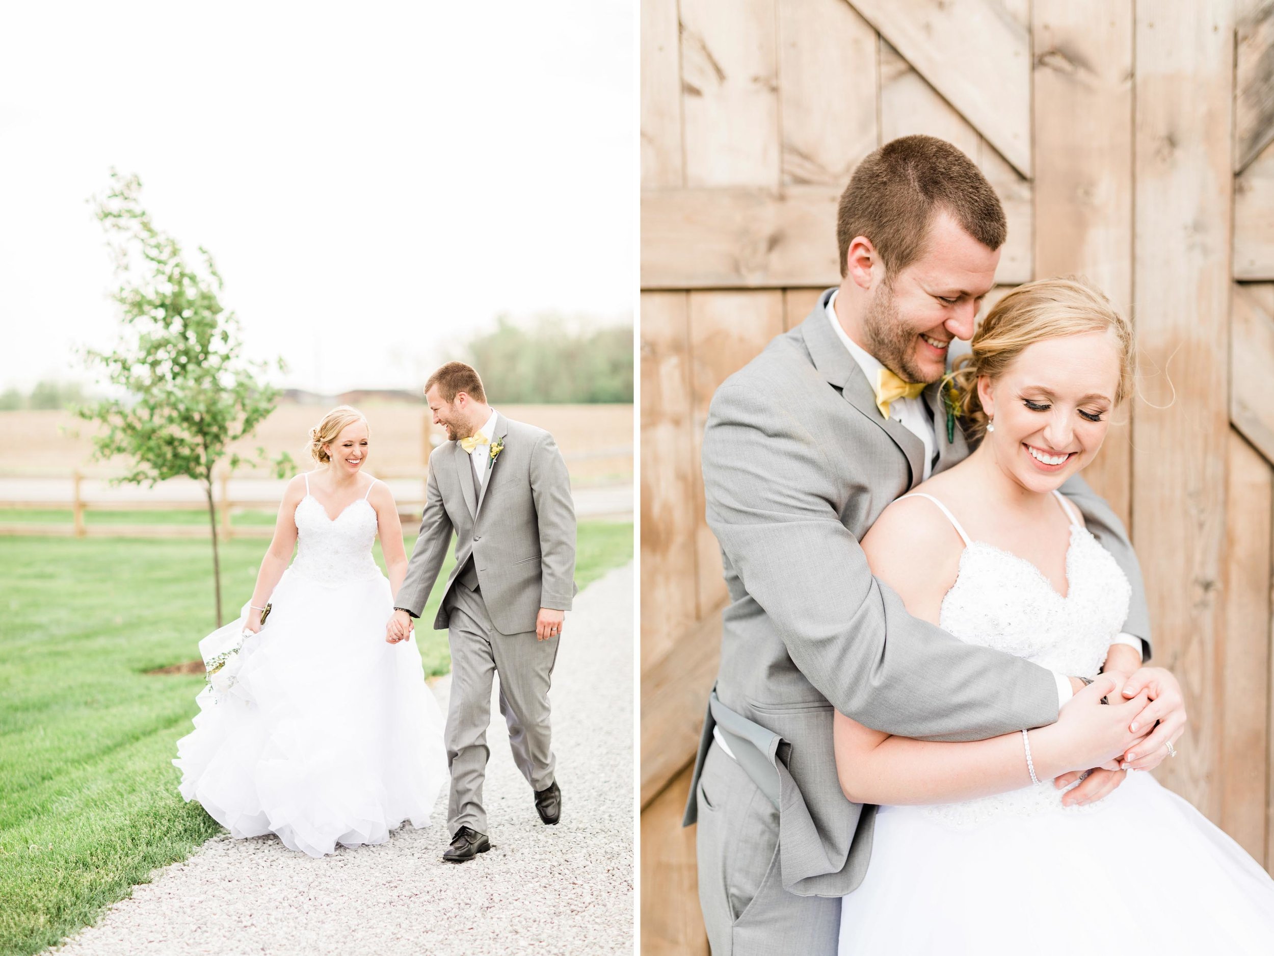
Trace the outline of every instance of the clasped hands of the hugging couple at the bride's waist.
[[[1185, 700], [1181, 684], [1170, 670], [1142, 667], [1129, 674], [1111, 667], [1111, 663], [1107, 662], [1107, 670], [1091, 687], [1075, 695], [1075, 706], [1087, 706], [1089, 713], [1070, 713], [1059, 718], [1059, 724], [1064, 720], [1074, 724], [1082, 735], [1092, 737], [1096, 733], [1099, 737], [1115, 732], [1115, 737], [1110, 738], [1113, 741], [1113, 752], [1108, 760], [1092, 770], [1073, 770], [1056, 778], [1054, 785], [1059, 789], [1083, 778], [1078, 786], [1063, 797], [1063, 803], [1068, 807], [1106, 797], [1124, 781], [1129, 770], [1153, 770], [1168, 756], [1168, 744], [1176, 743], [1185, 733]], [[1112, 706], [1094, 711], [1092, 705], [1102, 696]], [[1065, 710], [1070, 710], [1070, 704]], [[1087, 727], [1089, 724], [1093, 727]]]

